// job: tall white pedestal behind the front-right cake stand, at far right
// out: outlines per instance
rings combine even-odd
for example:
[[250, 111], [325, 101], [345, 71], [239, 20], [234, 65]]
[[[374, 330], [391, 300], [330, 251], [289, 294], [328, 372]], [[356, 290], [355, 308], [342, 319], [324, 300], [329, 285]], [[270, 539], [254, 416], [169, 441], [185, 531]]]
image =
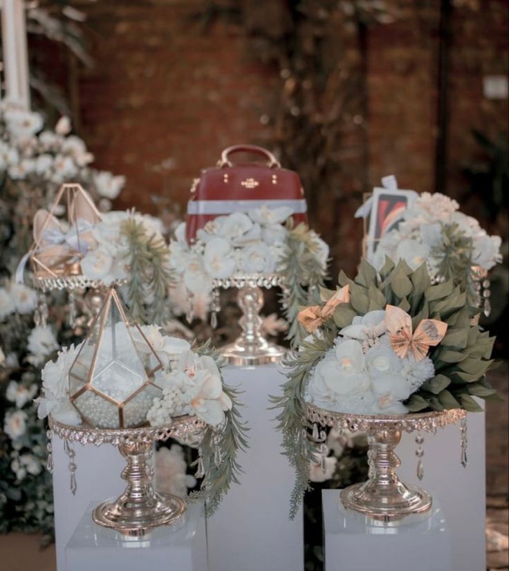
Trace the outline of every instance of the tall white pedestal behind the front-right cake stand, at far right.
[[[479, 402], [481, 404], [481, 402]], [[396, 454], [398, 475], [427, 489], [438, 500], [450, 527], [453, 571], [486, 568], [485, 414], [468, 413], [468, 465], [460, 464], [460, 427], [455, 424], [424, 436], [424, 478], [416, 476], [416, 433], [404, 433]]]

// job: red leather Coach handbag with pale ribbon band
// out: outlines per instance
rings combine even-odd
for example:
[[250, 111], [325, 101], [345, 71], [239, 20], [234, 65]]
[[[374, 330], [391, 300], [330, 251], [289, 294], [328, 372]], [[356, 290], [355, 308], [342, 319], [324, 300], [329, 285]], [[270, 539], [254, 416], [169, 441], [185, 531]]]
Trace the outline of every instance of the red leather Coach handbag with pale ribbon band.
[[[248, 152], [266, 158], [267, 163], [233, 165], [230, 156]], [[281, 165], [270, 151], [250, 144], [237, 144], [221, 153], [216, 167], [201, 171], [194, 180], [187, 203], [186, 237], [189, 243], [196, 232], [216, 218], [233, 212], [248, 212], [263, 205], [293, 209], [296, 223], [308, 222], [304, 189], [299, 175]]]

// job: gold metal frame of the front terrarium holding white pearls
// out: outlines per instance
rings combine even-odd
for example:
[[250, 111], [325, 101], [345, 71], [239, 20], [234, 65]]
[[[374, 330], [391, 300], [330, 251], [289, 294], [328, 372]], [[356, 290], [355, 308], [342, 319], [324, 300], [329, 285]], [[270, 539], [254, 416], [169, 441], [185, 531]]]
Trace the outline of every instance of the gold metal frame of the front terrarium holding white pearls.
[[[131, 335], [131, 331], [129, 329], [131, 327], [135, 327], [138, 330], [138, 332], [140, 333], [140, 335], [142, 336], [142, 338], [145, 340], [145, 343], [147, 344], [147, 346], [151, 349], [152, 354], [154, 355], [154, 357], [156, 357], [156, 361], [158, 362], [158, 365], [156, 367], [151, 368], [149, 371], [145, 371], [145, 373], [147, 374], [147, 380], [142, 385], [140, 385], [138, 387], [138, 389], [136, 389], [136, 391], [134, 391], [131, 395], [129, 395], [129, 397], [127, 397], [126, 400], [123, 400], [123, 401], [115, 400], [114, 398], [112, 398], [108, 395], [105, 395], [102, 391], [95, 389], [95, 387], [92, 384], [94, 373], [95, 373], [95, 365], [96, 365], [97, 359], [98, 359], [98, 352], [99, 352], [99, 348], [100, 348], [102, 338], [104, 335], [104, 330], [106, 328], [107, 318], [108, 318], [109, 310], [111, 308], [112, 300], [115, 303], [118, 311], [120, 312], [120, 317], [122, 317], [122, 321], [124, 322], [125, 326], [127, 327], [129, 337], [131, 337], [131, 341], [133, 341], [133, 338]], [[118, 296], [118, 293], [115, 290], [114, 286], [112, 286], [110, 288], [110, 290], [107, 294], [107, 297], [104, 300], [104, 303], [102, 304], [102, 308], [99, 310], [98, 314], [95, 315], [94, 320], [91, 324], [89, 333], [88, 333], [88, 335], [86, 335], [86, 337], [83, 341], [82, 348], [84, 348], [84, 346], [85, 346], [86, 342], [89, 340], [89, 338], [92, 335], [94, 335], [95, 326], [96, 326], [99, 319], [101, 319], [101, 324], [100, 324], [100, 328], [99, 328], [99, 335], [98, 335], [98, 338], [95, 339], [95, 347], [93, 350], [93, 357], [92, 357], [91, 365], [90, 365], [90, 368], [89, 368], [89, 371], [88, 371], [88, 374], [86, 377], [86, 383], [81, 387], [81, 389], [77, 390], [73, 395], [71, 395], [71, 376], [73, 376], [76, 380], [82, 382], [82, 378], [77, 377], [77, 375], [73, 375], [73, 373], [72, 373], [73, 366], [78, 362], [78, 359], [80, 359], [80, 354], [81, 354], [82, 349], [80, 349], [76, 358], [73, 361], [73, 364], [69, 368], [69, 373], [68, 373], [69, 400], [71, 400], [71, 404], [75, 407], [75, 409], [80, 414], [80, 416], [88, 424], [93, 426], [93, 422], [90, 422], [90, 420], [88, 418], [86, 418], [86, 416], [82, 413], [82, 411], [80, 411], [80, 409], [78, 409], [78, 407], [75, 404], [75, 400], [77, 400], [77, 398], [80, 397], [81, 395], [83, 395], [86, 391], [90, 391], [91, 393], [94, 393], [98, 397], [100, 397], [100, 398], [106, 400], [107, 402], [110, 402], [111, 404], [114, 404], [115, 406], [117, 406], [119, 428], [124, 429], [124, 428], [127, 428], [127, 427], [124, 427], [124, 406], [126, 404], [128, 404], [129, 402], [131, 402], [131, 400], [133, 400], [133, 398], [135, 398], [137, 395], [139, 395], [149, 385], [154, 386], [156, 389], [162, 390], [161, 387], [158, 386], [157, 384], [155, 384], [153, 381], [154, 381], [154, 373], [156, 373], [156, 371], [160, 371], [163, 369], [163, 362], [161, 362], [160, 358], [158, 357], [158, 355], [156, 353], [156, 350], [154, 350], [154, 347], [151, 345], [150, 341], [147, 339], [147, 336], [145, 335], [145, 333], [143, 333], [142, 328], [140, 328], [140, 326], [138, 325], [138, 322], [132, 318], [129, 319], [129, 317], [127, 316], [127, 312], [124, 310], [123, 303], [122, 303], [120, 297]], [[133, 345], [134, 345], [134, 341], [133, 341]], [[138, 355], [138, 357], [139, 357], [139, 355]], [[144, 367], [144, 369], [145, 369], [145, 367]], [[145, 423], [139, 424], [138, 426], [142, 426], [143, 424], [145, 424]], [[128, 428], [134, 428], [134, 427], [128, 427]]]

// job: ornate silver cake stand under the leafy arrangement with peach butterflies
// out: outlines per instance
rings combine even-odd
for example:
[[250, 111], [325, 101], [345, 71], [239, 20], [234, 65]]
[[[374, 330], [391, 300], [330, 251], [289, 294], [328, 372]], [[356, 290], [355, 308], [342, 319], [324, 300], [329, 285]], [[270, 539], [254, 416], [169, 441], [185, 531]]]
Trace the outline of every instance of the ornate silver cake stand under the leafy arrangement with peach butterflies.
[[346, 487], [340, 497], [346, 509], [362, 514], [371, 525], [394, 527], [425, 519], [431, 512], [432, 496], [429, 492], [402, 483], [396, 474], [401, 462], [395, 449], [402, 432], [417, 432], [417, 476], [422, 479], [422, 432], [436, 433], [437, 429], [461, 422], [461, 463], [466, 465], [467, 412], [463, 409], [406, 415], [358, 415], [327, 411], [308, 404], [305, 414], [311, 422], [322, 427], [332, 427], [339, 432], [367, 432], [369, 478], [364, 483]]

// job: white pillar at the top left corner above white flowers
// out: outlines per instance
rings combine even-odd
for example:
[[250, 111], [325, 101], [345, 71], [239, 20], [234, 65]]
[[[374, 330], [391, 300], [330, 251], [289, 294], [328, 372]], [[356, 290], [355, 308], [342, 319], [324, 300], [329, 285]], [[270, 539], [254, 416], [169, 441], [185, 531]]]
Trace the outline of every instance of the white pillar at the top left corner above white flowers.
[[5, 99], [30, 108], [28, 50], [23, 0], [1, 0], [2, 57]]

